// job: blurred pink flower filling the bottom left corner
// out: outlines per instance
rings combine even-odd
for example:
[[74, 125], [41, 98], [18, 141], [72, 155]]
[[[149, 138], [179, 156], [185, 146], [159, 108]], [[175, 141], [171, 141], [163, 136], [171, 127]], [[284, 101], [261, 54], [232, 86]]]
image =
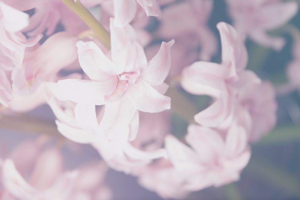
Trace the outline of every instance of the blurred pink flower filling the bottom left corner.
[[66, 171], [57, 148], [43, 149], [42, 140], [22, 142], [0, 162], [3, 193], [0, 199], [111, 199], [104, 185], [107, 166], [93, 162], [73, 171]]

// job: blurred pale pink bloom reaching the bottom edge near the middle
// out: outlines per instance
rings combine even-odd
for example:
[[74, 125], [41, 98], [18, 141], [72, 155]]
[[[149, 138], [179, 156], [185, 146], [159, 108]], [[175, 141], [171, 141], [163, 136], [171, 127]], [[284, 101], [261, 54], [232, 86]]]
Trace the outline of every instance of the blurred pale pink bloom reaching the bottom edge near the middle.
[[169, 160], [160, 159], [141, 172], [138, 175], [139, 184], [163, 199], [184, 199], [189, 194], [182, 187], [183, 182]]

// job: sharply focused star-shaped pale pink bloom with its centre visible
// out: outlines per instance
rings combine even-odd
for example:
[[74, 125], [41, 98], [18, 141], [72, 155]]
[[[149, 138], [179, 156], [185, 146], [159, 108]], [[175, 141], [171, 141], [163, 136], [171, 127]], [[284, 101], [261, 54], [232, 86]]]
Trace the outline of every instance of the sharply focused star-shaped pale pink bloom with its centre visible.
[[[113, 26], [111, 59], [94, 42], [77, 43], [79, 63], [91, 80], [58, 81], [61, 91], [76, 103], [104, 105], [120, 99], [143, 112], [170, 109], [164, 79], [170, 69], [170, 48], [174, 41], [163, 42], [157, 55], [147, 63], [144, 49], [134, 29]], [[161, 94], [159, 91], [164, 90]]]

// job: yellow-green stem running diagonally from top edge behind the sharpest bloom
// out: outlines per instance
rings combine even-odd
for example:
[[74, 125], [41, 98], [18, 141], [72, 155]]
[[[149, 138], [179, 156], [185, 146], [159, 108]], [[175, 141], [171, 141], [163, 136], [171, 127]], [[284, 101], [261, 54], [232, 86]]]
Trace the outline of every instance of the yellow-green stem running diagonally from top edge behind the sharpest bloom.
[[98, 22], [98, 20], [86, 9], [79, 0], [61, 0], [69, 7], [89, 28], [95, 33], [95, 38], [99, 40], [107, 49], [110, 49], [110, 34]]

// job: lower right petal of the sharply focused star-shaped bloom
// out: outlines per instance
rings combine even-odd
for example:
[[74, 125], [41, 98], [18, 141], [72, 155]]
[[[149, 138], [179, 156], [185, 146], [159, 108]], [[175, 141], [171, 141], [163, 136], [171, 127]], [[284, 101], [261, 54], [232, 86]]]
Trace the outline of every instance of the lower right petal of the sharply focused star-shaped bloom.
[[143, 112], [161, 112], [171, 108], [171, 98], [160, 94], [143, 80], [131, 85], [124, 97]]

